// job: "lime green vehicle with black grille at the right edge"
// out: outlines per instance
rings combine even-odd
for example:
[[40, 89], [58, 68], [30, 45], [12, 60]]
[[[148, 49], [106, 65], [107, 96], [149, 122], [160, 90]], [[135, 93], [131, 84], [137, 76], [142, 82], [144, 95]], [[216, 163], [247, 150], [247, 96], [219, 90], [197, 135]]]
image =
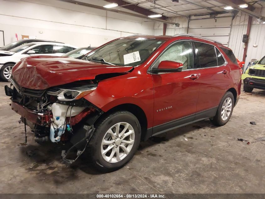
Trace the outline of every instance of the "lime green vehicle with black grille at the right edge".
[[265, 90], [265, 56], [255, 65], [246, 69], [241, 79], [245, 92], [252, 92], [254, 88]]

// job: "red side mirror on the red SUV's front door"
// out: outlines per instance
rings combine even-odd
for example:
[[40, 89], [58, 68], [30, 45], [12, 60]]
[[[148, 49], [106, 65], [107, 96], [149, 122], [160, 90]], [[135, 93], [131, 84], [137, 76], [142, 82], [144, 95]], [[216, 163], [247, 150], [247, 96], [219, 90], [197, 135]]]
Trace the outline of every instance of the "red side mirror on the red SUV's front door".
[[158, 65], [157, 69], [154, 69], [155, 73], [166, 73], [166, 72], [180, 72], [182, 70], [183, 64], [173, 61], [162, 61]]

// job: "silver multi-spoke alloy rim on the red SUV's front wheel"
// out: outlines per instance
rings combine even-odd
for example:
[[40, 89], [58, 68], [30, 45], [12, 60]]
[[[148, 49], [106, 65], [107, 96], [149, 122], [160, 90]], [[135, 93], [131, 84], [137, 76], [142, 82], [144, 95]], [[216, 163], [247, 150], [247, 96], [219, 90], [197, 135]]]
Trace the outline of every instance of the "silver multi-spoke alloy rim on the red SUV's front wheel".
[[135, 141], [135, 131], [127, 122], [114, 124], [103, 137], [101, 154], [105, 161], [117, 163], [131, 151]]

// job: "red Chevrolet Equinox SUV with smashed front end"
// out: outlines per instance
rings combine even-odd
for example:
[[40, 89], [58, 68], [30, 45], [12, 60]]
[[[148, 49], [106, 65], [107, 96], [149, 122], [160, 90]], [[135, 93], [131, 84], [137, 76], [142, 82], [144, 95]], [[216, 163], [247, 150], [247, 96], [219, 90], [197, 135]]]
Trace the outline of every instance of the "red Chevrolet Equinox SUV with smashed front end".
[[[231, 49], [197, 36], [130, 36], [83, 60], [33, 56], [14, 67], [12, 109], [35, 141], [71, 142], [95, 167], [122, 167], [141, 140], [209, 118], [228, 122], [242, 70]], [[69, 152], [77, 152], [70, 159]]]

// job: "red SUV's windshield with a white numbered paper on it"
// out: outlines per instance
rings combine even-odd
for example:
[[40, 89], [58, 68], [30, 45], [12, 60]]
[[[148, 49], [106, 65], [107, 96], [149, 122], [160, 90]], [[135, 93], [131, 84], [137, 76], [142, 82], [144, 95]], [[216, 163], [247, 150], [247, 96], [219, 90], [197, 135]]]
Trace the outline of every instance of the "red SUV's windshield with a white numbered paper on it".
[[138, 66], [164, 42], [164, 39], [118, 39], [104, 45], [92, 53], [89, 53], [87, 55], [87, 60], [103, 61], [105, 63], [120, 66]]

